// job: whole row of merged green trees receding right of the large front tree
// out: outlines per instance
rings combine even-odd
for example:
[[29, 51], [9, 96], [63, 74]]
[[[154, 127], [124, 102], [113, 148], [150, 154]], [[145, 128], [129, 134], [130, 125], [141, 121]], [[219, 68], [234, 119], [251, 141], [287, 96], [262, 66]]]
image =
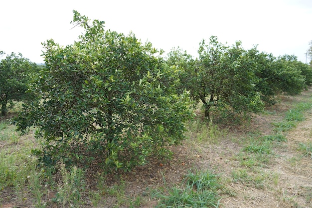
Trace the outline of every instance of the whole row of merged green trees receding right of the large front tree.
[[295, 56], [274, 57], [257, 47], [245, 50], [241, 42], [226, 46], [211, 36], [199, 45], [194, 59], [180, 48], [170, 51], [166, 63], [176, 71], [178, 92], [190, 91], [201, 101], [205, 116], [210, 112], [226, 114], [261, 112], [276, 103], [278, 94], [296, 95], [311, 85], [312, 69]]

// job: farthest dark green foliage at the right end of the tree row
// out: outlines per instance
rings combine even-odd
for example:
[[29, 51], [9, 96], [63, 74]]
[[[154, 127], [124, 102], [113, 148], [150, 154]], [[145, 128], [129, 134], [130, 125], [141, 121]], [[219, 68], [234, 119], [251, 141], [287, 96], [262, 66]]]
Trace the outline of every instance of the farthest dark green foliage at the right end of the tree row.
[[[258, 51], [255, 54], [255, 63], [256, 90], [261, 93], [261, 98], [267, 105], [277, 102], [276, 95], [296, 95], [307, 86], [305, 76], [294, 56], [276, 58], [272, 54]], [[305, 73], [309, 77], [311, 69], [307, 68]]]

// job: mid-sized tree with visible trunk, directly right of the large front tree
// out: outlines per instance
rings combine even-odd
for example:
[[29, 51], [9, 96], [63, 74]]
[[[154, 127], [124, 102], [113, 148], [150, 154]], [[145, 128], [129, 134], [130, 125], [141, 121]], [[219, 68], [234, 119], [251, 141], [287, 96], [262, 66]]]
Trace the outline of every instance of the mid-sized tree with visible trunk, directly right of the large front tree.
[[176, 69], [180, 79], [175, 86], [189, 90], [194, 100], [203, 103], [208, 120], [212, 109], [226, 113], [263, 110], [255, 91], [253, 60], [240, 45], [238, 41], [228, 47], [211, 36], [208, 44], [205, 40], [200, 43], [197, 59], [180, 49], [168, 54], [167, 64]]

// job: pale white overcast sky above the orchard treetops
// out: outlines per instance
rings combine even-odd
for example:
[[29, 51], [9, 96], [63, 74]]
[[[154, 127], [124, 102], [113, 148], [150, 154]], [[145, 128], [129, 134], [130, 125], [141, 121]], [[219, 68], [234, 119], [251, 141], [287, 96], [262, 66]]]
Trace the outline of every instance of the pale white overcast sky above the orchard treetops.
[[41, 42], [77, 40], [74, 9], [165, 52], [179, 46], [193, 56], [202, 39], [215, 35], [228, 45], [241, 40], [245, 49], [258, 45], [306, 62], [312, 40], [312, 0], [1, 0], [0, 50], [42, 63]]

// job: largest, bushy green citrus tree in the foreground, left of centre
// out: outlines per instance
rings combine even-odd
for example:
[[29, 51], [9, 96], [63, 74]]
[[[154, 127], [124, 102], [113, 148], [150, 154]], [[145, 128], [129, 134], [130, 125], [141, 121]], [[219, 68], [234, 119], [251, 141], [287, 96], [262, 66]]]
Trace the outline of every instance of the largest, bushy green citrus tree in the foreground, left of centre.
[[192, 116], [187, 92], [177, 95], [161, 51], [134, 34], [104, 30], [104, 22], [74, 11], [85, 33], [73, 45], [44, 43], [46, 68], [36, 88], [41, 102], [24, 106], [18, 130], [38, 128], [42, 162], [82, 163], [129, 170], [151, 156], [167, 156]]

